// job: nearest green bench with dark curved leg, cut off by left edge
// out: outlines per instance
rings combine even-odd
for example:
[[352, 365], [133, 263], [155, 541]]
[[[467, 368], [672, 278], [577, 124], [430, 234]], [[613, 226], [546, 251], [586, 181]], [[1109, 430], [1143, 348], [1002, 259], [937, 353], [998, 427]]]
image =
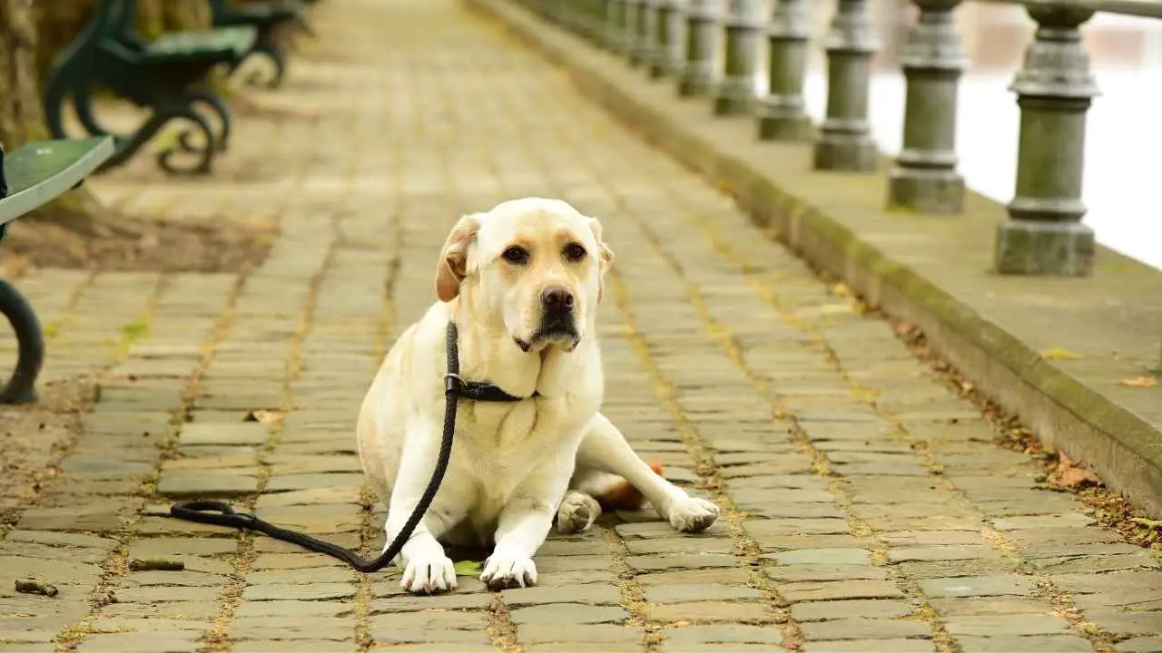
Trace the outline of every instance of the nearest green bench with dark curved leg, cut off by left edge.
[[[0, 241], [8, 224], [76, 188], [114, 152], [113, 138], [40, 141], [10, 155], [0, 150]], [[0, 389], [0, 403], [36, 401], [36, 378], [44, 363], [44, 336], [28, 300], [0, 280], [0, 313], [16, 333], [16, 368]]]

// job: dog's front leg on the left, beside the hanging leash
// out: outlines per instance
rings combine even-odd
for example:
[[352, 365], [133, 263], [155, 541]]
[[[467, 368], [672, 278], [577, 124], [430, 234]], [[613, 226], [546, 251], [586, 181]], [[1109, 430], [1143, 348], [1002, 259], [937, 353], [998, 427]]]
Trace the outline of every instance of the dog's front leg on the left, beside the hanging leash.
[[[403, 447], [400, 471], [392, 488], [383, 531], [390, 545], [403, 530], [428, 486], [436, 466], [438, 443], [424, 436], [410, 436]], [[416, 524], [416, 530], [403, 545], [396, 564], [403, 568], [400, 587], [415, 594], [435, 594], [456, 588], [456, 567], [444, 554], [437, 538], [464, 518], [471, 497], [456, 493], [457, 486], [446, 478], [428, 514]]]

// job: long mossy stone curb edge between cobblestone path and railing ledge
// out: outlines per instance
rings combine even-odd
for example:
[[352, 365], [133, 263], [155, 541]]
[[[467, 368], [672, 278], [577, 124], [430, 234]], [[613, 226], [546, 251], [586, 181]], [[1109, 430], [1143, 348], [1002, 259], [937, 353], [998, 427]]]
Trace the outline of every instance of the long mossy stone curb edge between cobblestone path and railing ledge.
[[[919, 325], [941, 357], [1043, 442], [1092, 466], [1106, 485], [1146, 512], [1162, 516], [1162, 431], [1157, 426], [1048, 363], [1037, 347], [813, 207], [796, 193], [799, 180], [754, 165], [746, 151], [763, 148], [770, 158], [804, 157], [810, 156], [810, 145], [759, 143], [753, 135], [748, 143], [713, 138], [683, 120], [675, 109], [681, 102], [673, 94], [659, 99], [640, 71], [629, 70], [580, 37], [505, 0], [464, 1], [561, 66], [583, 94], [636, 134], [730, 193], [756, 224], [775, 229], [783, 243], [812, 265], [842, 278], [868, 306]], [[705, 120], [712, 120], [709, 108]], [[866, 179], [830, 173], [819, 185], [838, 191]], [[982, 202], [996, 211], [995, 202], [977, 198], [976, 203]], [[1107, 253], [1120, 256], [1103, 249], [1102, 256]]]

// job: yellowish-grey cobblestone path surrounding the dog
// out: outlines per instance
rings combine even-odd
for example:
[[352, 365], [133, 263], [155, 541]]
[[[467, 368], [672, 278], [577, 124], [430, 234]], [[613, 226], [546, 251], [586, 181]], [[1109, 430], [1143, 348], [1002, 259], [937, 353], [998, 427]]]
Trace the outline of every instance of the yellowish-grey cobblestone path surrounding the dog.
[[[1162, 651], [1150, 552], [1034, 489], [888, 324], [559, 71], [453, 0], [327, 0], [315, 23], [266, 99], [297, 114], [242, 119], [216, 181], [94, 184], [156, 211], [277, 217], [264, 265], [23, 284], [53, 324], [51, 374], [113, 367], [0, 540], [0, 650]], [[604, 221], [607, 412], [720, 503], [719, 526], [607, 522], [551, 538], [540, 587], [410, 597], [397, 575], [160, 516], [228, 497], [378, 551], [359, 402], [433, 300], [460, 213], [526, 194]], [[157, 557], [185, 571], [130, 566]], [[60, 594], [14, 593], [27, 574]]]

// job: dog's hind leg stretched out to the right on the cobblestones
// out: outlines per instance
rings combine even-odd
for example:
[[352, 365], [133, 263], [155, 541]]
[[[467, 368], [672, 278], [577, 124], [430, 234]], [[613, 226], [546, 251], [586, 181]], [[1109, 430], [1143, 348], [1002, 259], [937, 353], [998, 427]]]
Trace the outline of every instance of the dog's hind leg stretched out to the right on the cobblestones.
[[616, 474], [638, 489], [659, 515], [675, 529], [696, 533], [718, 519], [718, 507], [686, 494], [682, 488], [658, 475], [625, 442], [617, 426], [602, 414], [589, 423], [578, 451], [578, 468]]

